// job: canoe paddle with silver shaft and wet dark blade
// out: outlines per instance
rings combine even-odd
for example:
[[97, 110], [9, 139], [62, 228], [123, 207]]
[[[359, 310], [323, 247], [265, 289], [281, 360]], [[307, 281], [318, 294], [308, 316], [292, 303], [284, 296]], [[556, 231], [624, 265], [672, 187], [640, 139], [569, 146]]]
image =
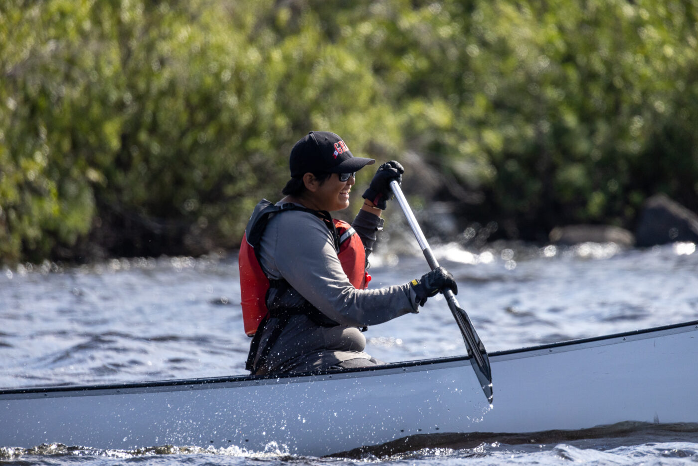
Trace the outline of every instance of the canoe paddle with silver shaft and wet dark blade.
[[[438, 267], [438, 261], [436, 261], [436, 257], [433, 255], [433, 252], [431, 252], [429, 243], [426, 242], [424, 233], [422, 233], [422, 228], [419, 228], [419, 224], [417, 223], [415, 214], [413, 214], [410, 205], [407, 203], [407, 199], [405, 198], [405, 195], [402, 193], [400, 185], [398, 184], [398, 182], [393, 180], [392, 182], [390, 182], [390, 188], [392, 189], [393, 194], [395, 194], [395, 198], [397, 199], [397, 202], [400, 204], [400, 207], [402, 208], [402, 211], [404, 212], [405, 217], [407, 218], [408, 224], [410, 224], [413, 233], [415, 233], [415, 238], [417, 238], [419, 247], [422, 248], [422, 252], [424, 253], [426, 262], [429, 263], [429, 267], [431, 267], [431, 270], [434, 270]], [[470, 323], [470, 318], [468, 317], [468, 314], [466, 314], [466, 312], [462, 310], [461, 307], [459, 307], [458, 301], [456, 300], [456, 296], [454, 296], [453, 291], [447, 289], [443, 292], [443, 295], [446, 297], [446, 300], [448, 301], [448, 307], [450, 308], [451, 313], [456, 319], [458, 327], [461, 329], [463, 341], [466, 342], [468, 356], [470, 356], [470, 365], [473, 367], [473, 370], [475, 371], [477, 380], [480, 381], [480, 386], [482, 386], [482, 391], [484, 392], [487, 401], [491, 403], [493, 398], [492, 371], [489, 367], [489, 358], [487, 357], [487, 350], [484, 349], [484, 344], [482, 344], [482, 341], [480, 341], [480, 337], [477, 336], [475, 328], [473, 328], [473, 323]], [[473, 360], [475, 360], [475, 364], [473, 364]]]

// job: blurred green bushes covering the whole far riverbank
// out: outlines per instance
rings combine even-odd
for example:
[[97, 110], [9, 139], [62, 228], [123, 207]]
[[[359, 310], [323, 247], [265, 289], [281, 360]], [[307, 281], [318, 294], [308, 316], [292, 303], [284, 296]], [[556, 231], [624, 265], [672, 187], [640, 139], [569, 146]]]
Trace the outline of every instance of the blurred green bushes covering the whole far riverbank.
[[3, 0], [0, 262], [235, 248], [310, 129], [416, 155], [507, 238], [698, 210], [697, 24], [696, 0]]

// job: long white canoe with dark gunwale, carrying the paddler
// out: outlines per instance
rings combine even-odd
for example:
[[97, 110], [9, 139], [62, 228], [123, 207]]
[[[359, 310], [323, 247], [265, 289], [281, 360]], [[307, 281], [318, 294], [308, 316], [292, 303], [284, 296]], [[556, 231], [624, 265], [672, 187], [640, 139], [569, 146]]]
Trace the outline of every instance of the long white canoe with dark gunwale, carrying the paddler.
[[411, 435], [698, 422], [698, 321], [468, 358], [300, 377], [0, 391], [0, 446], [270, 447], [323, 456]]

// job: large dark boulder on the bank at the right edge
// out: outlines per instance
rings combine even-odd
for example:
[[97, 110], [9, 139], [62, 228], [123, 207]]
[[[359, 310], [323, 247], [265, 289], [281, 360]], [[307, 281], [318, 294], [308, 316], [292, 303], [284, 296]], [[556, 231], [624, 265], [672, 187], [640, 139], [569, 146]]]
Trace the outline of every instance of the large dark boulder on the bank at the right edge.
[[640, 213], [635, 241], [638, 247], [698, 242], [698, 215], [666, 195], [656, 194], [645, 202]]

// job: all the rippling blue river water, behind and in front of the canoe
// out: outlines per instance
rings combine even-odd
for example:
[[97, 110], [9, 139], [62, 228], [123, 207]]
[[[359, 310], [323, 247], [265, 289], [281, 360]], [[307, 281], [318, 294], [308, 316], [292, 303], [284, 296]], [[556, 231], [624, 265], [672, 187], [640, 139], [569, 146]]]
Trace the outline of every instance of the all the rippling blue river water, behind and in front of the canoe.
[[[412, 248], [412, 249], [410, 249]], [[426, 271], [415, 245], [372, 259], [371, 286]], [[491, 245], [434, 247], [459, 283], [458, 298], [489, 351], [592, 337], [698, 319], [698, 253], [691, 243], [647, 250]], [[0, 387], [92, 384], [244, 373], [235, 258], [114, 260], [79, 268], [45, 263], [0, 270]], [[371, 355], [384, 361], [465, 352], [440, 299], [419, 314], [374, 326]], [[496, 383], [496, 381], [495, 381]], [[496, 399], [495, 399], [496, 403]], [[60, 465], [348, 466], [678, 464], [698, 462], [698, 432], [685, 425], [526, 436], [431, 436], [405, 453], [354, 458], [295, 457], [283, 451], [152, 445], [138, 451], [43, 445], [0, 449], [0, 463]]]

